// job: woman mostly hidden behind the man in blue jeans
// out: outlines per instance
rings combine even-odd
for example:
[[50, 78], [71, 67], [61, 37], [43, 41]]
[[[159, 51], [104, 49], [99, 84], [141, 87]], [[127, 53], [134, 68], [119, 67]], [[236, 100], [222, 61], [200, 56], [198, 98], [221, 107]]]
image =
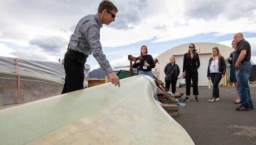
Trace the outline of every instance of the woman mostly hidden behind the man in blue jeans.
[[234, 83], [235, 84], [235, 87], [236, 87], [236, 94], [237, 94], [237, 98], [235, 99], [235, 101], [233, 101], [234, 104], [239, 104], [241, 103], [241, 100], [240, 100], [240, 96], [239, 96], [239, 93], [238, 93], [238, 90], [237, 90], [237, 80], [236, 80], [236, 74], [235, 74], [235, 66], [233, 66], [233, 58], [234, 58], [234, 55], [235, 55], [235, 51], [236, 51], [236, 42], [235, 40], [232, 41], [232, 48], [234, 49], [234, 51], [232, 53], [230, 53], [230, 56], [229, 56], [229, 64], [230, 64], [230, 77], [229, 77], [229, 83]]

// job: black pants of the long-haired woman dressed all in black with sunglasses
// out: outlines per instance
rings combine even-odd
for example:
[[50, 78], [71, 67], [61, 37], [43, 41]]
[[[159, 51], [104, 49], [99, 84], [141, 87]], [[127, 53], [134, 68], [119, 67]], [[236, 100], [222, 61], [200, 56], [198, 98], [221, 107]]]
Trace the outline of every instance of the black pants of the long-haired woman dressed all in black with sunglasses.
[[193, 83], [193, 95], [199, 95], [198, 92], [198, 72], [186, 72], [186, 95], [190, 95], [191, 79]]

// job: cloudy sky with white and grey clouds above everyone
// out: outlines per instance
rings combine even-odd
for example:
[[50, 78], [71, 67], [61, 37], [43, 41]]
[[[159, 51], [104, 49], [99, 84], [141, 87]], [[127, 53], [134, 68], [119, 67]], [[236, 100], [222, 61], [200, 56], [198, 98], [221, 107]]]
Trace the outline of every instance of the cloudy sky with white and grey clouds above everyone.
[[[95, 14], [101, 0], [0, 0], [0, 55], [29, 60], [63, 59], [70, 35], [84, 16]], [[103, 25], [100, 40], [111, 66], [129, 65], [146, 44], [153, 57], [184, 43], [231, 46], [243, 32], [256, 62], [254, 0], [112, 0], [116, 21]], [[186, 52], [184, 52], [186, 53]], [[99, 68], [93, 56], [87, 64]]]

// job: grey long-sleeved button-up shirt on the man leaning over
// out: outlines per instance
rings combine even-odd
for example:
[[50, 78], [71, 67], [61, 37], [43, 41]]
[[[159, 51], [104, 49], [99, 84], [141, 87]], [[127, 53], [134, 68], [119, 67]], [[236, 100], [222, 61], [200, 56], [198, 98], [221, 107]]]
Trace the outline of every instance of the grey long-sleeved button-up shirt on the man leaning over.
[[100, 21], [98, 14], [83, 17], [75, 27], [74, 34], [70, 37], [69, 48], [85, 55], [93, 55], [100, 67], [107, 73], [113, 72], [106, 55], [103, 54], [100, 44]]

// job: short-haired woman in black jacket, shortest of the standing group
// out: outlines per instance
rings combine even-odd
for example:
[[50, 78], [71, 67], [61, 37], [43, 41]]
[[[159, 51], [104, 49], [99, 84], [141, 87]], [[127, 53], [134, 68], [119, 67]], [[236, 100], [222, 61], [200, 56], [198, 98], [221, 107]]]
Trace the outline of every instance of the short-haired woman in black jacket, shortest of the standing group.
[[176, 92], [176, 84], [178, 76], [180, 73], [179, 66], [175, 64], [175, 57], [170, 58], [170, 63], [168, 63], [164, 68], [165, 75], [171, 75], [171, 80], [165, 80], [165, 88], [170, 90], [170, 85], [172, 85], [172, 93]]

